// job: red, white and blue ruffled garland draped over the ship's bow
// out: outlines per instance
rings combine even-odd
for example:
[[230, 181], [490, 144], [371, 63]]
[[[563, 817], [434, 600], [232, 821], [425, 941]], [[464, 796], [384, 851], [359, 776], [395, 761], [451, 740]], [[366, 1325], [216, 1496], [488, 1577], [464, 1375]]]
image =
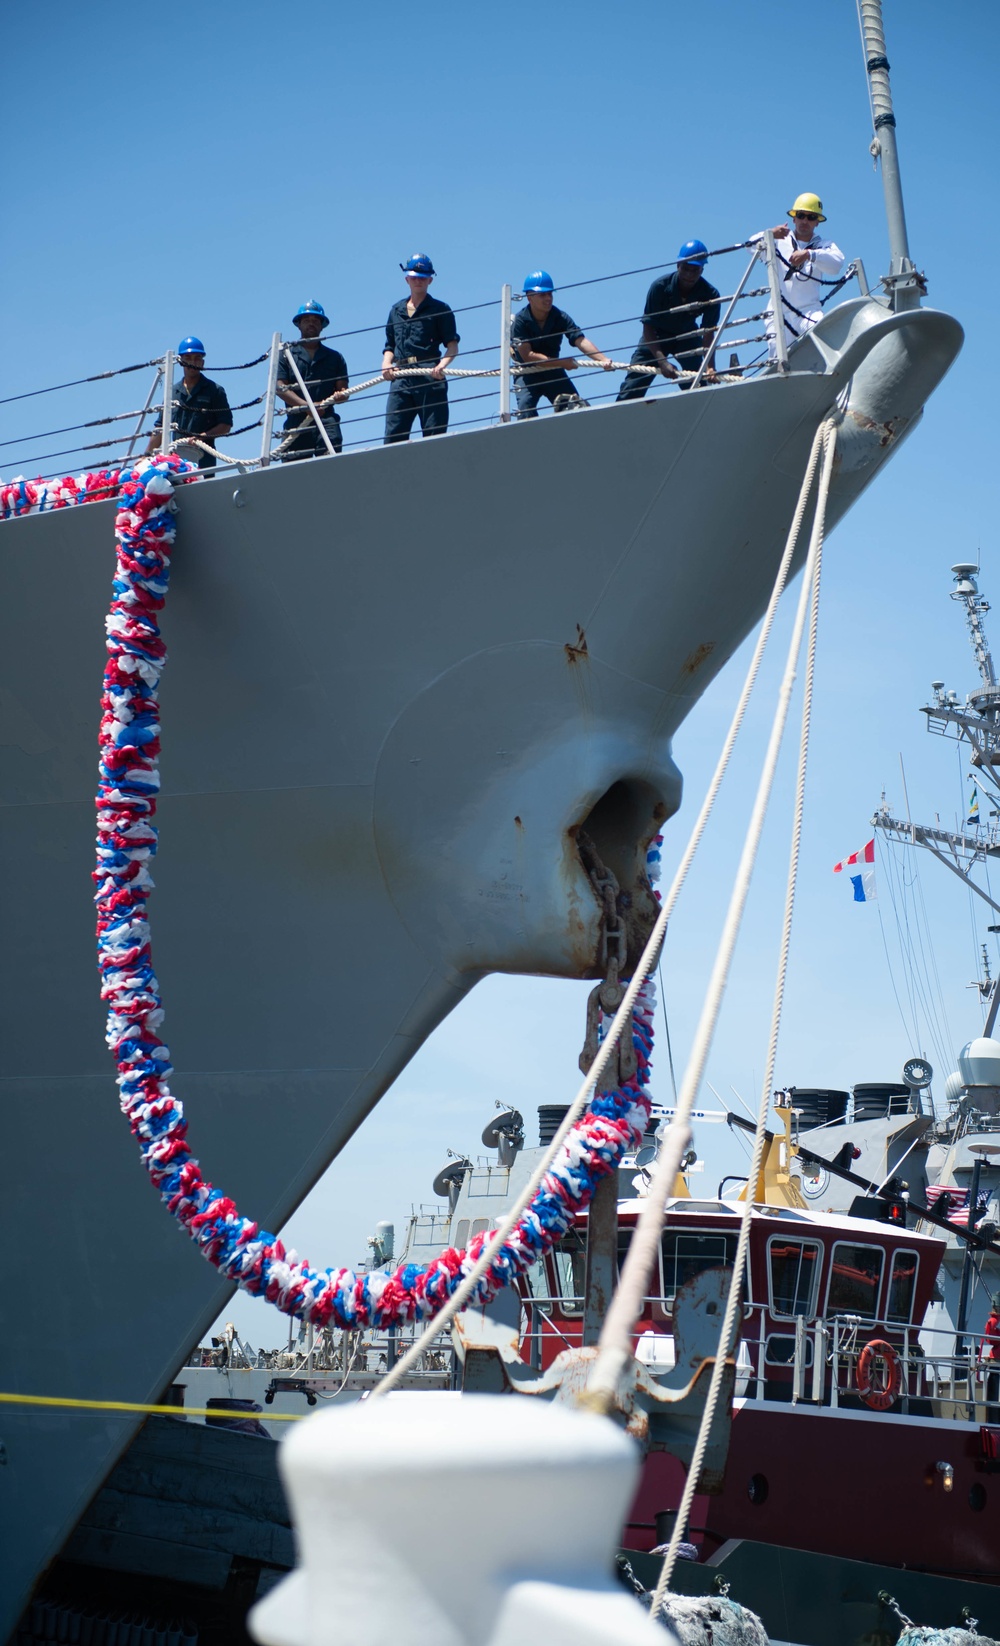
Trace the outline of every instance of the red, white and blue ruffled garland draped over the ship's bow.
[[[202, 1254], [229, 1281], [266, 1297], [285, 1314], [314, 1325], [387, 1327], [434, 1315], [479, 1259], [488, 1234], [465, 1251], [447, 1249], [426, 1266], [357, 1274], [312, 1269], [294, 1251], [243, 1218], [234, 1202], [206, 1182], [188, 1146], [184, 1111], [169, 1090], [169, 1052], [160, 1039], [163, 1004], [153, 971], [146, 900], [153, 889], [160, 788], [158, 685], [166, 649], [158, 614], [166, 599], [174, 542], [174, 481], [191, 472], [179, 458], [141, 461], [120, 474], [44, 489], [25, 482], [0, 491], [0, 514], [84, 502], [118, 489], [118, 543], [113, 599], [107, 617], [109, 663], [100, 719], [97, 788], [97, 951], [102, 997], [109, 1002], [107, 1044], [118, 1065], [122, 1109], [138, 1139], [143, 1164], [168, 1210]], [[35, 495], [31, 495], [35, 492]], [[660, 839], [650, 848], [655, 876]], [[594, 1096], [569, 1132], [530, 1207], [493, 1254], [474, 1300], [487, 1302], [544, 1256], [569, 1230], [602, 1177], [643, 1136], [650, 1116], [646, 1086], [653, 1045], [653, 984], [633, 1014], [638, 1070], [618, 1091]]]

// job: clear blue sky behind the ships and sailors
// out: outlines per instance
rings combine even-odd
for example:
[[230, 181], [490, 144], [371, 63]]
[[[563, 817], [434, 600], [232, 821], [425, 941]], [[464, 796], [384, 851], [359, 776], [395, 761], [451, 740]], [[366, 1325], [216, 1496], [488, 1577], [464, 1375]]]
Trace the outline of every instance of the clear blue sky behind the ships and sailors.
[[[923, 426], [829, 542], [778, 1060], [778, 1080], [798, 1085], [895, 1078], [918, 1050], [900, 1021], [878, 923], [882, 912], [895, 942], [885, 867], [880, 904], [868, 909], [849, 902], [831, 866], [868, 838], [883, 787], [901, 805], [900, 752], [916, 816], [949, 818], [962, 805], [954, 752], [928, 739], [918, 713], [933, 677], [962, 693], [974, 683], [961, 612], [947, 601], [949, 565], [982, 548], [984, 591], [1000, 599], [998, 13], [984, 0], [962, 8], [961, 26], [931, 0], [887, 0], [885, 13], [911, 250], [929, 300], [959, 316], [967, 344]], [[8, 72], [0, 110], [3, 393], [151, 359], [189, 331], [206, 339], [209, 362], [247, 360], [271, 331], [288, 334], [308, 296], [326, 305], [332, 331], [377, 328], [401, 295], [396, 265], [414, 250], [431, 252], [434, 291], [456, 306], [493, 300], [503, 280], [516, 290], [539, 263], [566, 285], [666, 262], [689, 235], [725, 245], [778, 222], [799, 189], [822, 196], [829, 230], [849, 257], [863, 257], [870, 278], [887, 267], [854, 0], [714, 0], [702, 15], [640, 0], [505, 13], [457, 3], [416, 12], [395, 0], [285, 12], [225, 0], [194, 13], [105, 3], [97, 20], [41, 3], [5, 18], [5, 48], [21, 71]], [[584, 328], [599, 326], [637, 314], [645, 285], [635, 277], [584, 286], [567, 306]], [[617, 349], [632, 341], [628, 324], [605, 336]], [[493, 309], [462, 319], [464, 349], [493, 337]], [[355, 377], [380, 359], [377, 331], [342, 347]], [[150, 375], [43, 397], [28, 410], [0, 407], [0, 439], [77, 421], [77, 412], [140, 405]], [[363, 415], [360, 400], [350, 415]], [[378, 433], [377, 423], [359, 425], [349, 438], [368, 428]], [[20, 472], [12, 451], [0, 448], [5, 477]], [[997, 625], [993, 639], [1000, 649]], [[678, 1065], [740, 849], [780, 642], [664, 953]], [[734, 660], [678, 736], [686, 793], [668, 831], [668, 871], [743, 662]], [[791, 759], [709, 1068], [724, 1095], [732, 1081], [748, 1101], [763, 1063], [789, 785]], [[931, 859], [919, 881], [954, 1055], [979, 1022], [965, 983], [987, 922], [977, 917], [974, 932], [965, 894]], [[536, 1103], [571, 1095], [584, 994], [498, 978], [474, 991], [293, 1218], [299, 1249], [321, 1264], [355, 1261], [378, 1218], [400, 1223], [411, 1202], [429, 1198], [446, 1147], [477, 1144], [495, 1098], [515, 1101], [531, 1128]], [[929, 1042], [919, 1049], [939, 1062]], [[663, 1040], [656, 1093], [669, 1096]], [[699, 1142], [702, 1182], [714, 1188], [738, 1170], [740, 1147], [717, 1131]], [[225, 1180], [224, 1160], [206, 1167]], [[240, 1304], [234, 1318], [255, 1338], [281, 1335], [260, 1305]]]

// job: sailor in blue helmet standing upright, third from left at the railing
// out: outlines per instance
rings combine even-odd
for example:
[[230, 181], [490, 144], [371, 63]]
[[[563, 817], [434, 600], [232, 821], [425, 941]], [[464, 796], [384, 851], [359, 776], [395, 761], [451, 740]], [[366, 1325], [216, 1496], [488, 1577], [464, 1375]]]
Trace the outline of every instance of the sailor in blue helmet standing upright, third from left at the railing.
[[[447, 303], [429, 296], [434, 265], [426, 253], [400, 263], [406, 275], [410, 296], [393, 303], [385, 323], [385, 354], [382, 375], [391, 388], [385, 407], [385, 444], [410, 439], [414, 418], [421, 431], [444, 435], [447, 430], [447, 379], [444, 367], [459, 352], [456, 318]], [[441, 356], [444, 349], [444, 356]], [[426, 365], [431, 370], [419, 377], [398, 377], [400, 367]]]

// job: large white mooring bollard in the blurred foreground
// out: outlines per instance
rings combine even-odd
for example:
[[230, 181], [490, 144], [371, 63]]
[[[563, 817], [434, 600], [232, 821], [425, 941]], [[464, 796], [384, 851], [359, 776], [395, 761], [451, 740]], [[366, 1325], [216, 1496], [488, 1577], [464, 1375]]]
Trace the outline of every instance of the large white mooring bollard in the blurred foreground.
[[299, 1565], [262, 1646], [668, 1646], [612, 1575], [640, 1453], [610, 1420], [503, 1394], [317, 1412], [281, 1445]]

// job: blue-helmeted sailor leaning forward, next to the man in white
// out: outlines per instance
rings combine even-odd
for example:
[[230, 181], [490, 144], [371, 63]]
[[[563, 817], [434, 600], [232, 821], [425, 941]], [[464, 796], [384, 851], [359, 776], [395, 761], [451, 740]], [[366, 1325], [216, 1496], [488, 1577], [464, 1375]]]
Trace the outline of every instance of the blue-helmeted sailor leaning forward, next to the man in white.
[[[684, 240], [673, 273], [660, 275], [646, 293], [643, 336], [630, 365], [656, 365], [664, 377], [676, 377], [669, 364], [673, 354], [686, 372], [696, 372], [707, 359], [702, 382], [717, 382], [712, 369], [715, 329], [719, 326], [719, 293], [704, 278], [709, 260], [702, 240]], [[618, 400], [641, 400], [653, 382], [650, 372], [628, 372], [618, 388]]]

